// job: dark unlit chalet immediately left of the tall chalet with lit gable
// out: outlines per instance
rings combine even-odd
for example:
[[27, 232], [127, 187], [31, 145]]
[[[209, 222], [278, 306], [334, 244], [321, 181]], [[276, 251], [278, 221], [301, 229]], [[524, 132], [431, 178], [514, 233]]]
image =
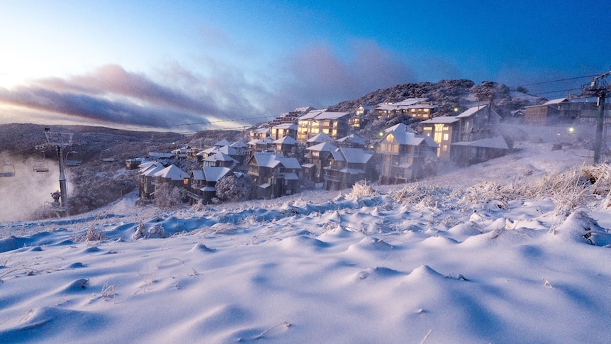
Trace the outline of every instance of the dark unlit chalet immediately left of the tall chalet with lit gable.
[[346, 189], [360, 180], [375, 178], [375, 169], [371, 164], [374, 153], [359, 148], [337, 148], [331, 152], [329, 165], [325, 171], [323, 189]]

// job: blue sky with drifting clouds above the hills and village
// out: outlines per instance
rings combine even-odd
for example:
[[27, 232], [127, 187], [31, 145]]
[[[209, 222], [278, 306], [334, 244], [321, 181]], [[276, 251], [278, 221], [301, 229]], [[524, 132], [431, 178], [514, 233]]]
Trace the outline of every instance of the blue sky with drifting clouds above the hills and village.
[[0, 123], [232, 127], [408, 82], [611, 70], [611, 1], [1, 1], [0, 32]]

